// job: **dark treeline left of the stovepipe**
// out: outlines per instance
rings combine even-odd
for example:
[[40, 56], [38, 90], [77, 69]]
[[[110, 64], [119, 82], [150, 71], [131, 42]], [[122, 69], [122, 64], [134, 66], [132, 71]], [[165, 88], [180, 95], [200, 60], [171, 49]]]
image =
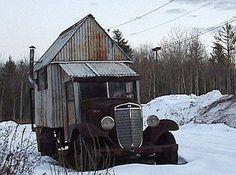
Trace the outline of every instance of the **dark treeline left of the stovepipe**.
[[0, 63], [0, 121], [30, 121], [28, 62], [11, 57]]

